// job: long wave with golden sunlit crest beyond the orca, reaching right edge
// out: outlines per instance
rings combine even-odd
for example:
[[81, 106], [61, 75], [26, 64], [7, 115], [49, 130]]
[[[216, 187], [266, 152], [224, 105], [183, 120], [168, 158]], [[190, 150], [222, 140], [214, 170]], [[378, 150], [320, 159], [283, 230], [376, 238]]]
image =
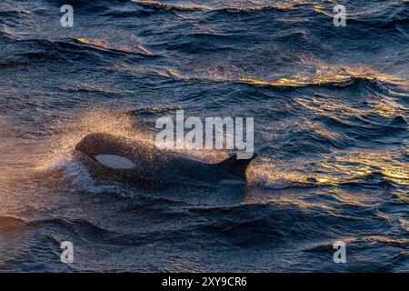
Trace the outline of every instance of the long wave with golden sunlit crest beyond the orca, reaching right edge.
[[[306, 63], [305, 65], [309, 65], [312, 68], [304, 73], [300, 72], [297, 75], [279, 77], [273, 80], [245, 76], [249, 74], [246, 74], [243, 70], [234, 67], [225, 68], [226, 70], [230, 69], [230, 72], [218, 72], [217, 68], [205, 67], [207, 69], [206, 72], [194, 70], [189, 74], [185, 74], [179, 70], [168, 68], [165, 70], [154, 69], [150, 71], [150, 74], [185, 82], [230, 82], [259, 87], [271, 87], [278, 90], [291, 90], [309, 87], [322, 87], [329, 89], [367, 87], [368, 89], [374, 90], [377, 93], [384, 92], [385, 94], [389, 94], [390, 90], [395, 90], [396, 88], [404, 88], [404, 86], [409, 82], [405, 76], [398, 77], [388, 75], [377, 72], [369, 67], [352, 68], [346, 65], [324, 65], [317, 61], [314, 61], [314, 63], [311, 64]], [[125, 69], [133, 71], [133, 69], [130, 67], [125, 67]], [[313, 70], [313, 72], [311, 72], [311, 70]]]

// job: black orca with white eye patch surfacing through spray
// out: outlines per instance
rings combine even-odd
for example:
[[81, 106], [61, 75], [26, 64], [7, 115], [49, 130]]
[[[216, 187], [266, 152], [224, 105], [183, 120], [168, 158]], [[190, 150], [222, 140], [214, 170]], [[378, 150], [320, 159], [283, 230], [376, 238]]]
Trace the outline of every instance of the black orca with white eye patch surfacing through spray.
[[236, 155], [216, 164], [207, 164], [189, 156], [160, 150], [155, 145], [137, 142], [120, 135], [92, 133], [75, 146], [93, 174], [121, 182], [178, 183], [184, 181], [221, 182], [234, 180], [246, 182], [245, 172], [249, 159], [237, 159]]

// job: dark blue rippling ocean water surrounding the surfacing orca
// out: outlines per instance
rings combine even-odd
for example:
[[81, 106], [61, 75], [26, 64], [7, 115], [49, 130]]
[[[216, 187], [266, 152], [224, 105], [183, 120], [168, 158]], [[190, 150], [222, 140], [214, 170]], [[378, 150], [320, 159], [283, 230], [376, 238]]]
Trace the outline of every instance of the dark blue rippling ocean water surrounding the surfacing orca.
[[[0, 270], [409, 271], [408, 65], [402, 0], [2, 1]], [[139, 189], [73, 158], [176, 109], [254, 117], [246, 186]]]

